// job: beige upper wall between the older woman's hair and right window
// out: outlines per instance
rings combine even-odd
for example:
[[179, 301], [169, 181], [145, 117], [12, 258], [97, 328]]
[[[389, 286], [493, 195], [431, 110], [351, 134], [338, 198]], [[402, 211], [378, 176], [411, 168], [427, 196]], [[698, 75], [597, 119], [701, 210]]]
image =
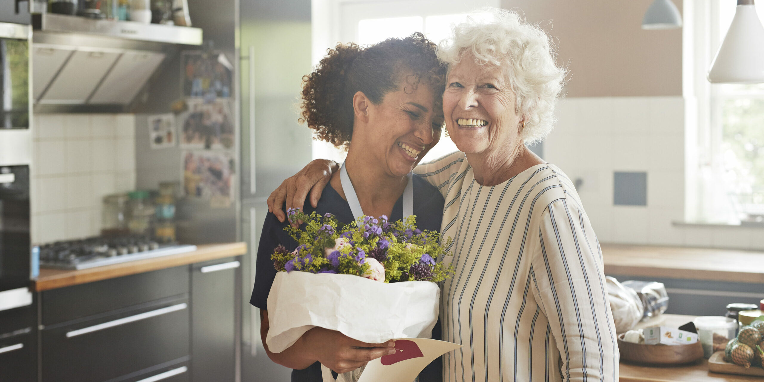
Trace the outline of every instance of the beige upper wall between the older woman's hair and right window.
[[[673, 0], [681, 11], [681, 0]], [[644, 31], [652, 0], [502, 0], [558, 44], [568, 97], [681, 95], [681, 28]], [[551, 21], [551, 25], [549, 23]]]

